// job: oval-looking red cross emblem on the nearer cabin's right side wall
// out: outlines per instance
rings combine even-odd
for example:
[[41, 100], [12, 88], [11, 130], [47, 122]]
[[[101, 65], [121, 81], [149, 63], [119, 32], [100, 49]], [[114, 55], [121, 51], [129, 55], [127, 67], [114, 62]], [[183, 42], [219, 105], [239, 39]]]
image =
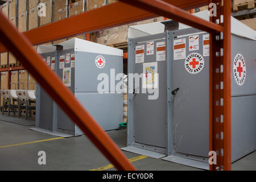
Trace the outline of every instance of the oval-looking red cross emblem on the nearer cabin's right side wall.
[[241, 53], [238, 53], [234, 58], [233, 74], [237, 84], [239, 86], [242, 86], [243, 83], [245, 82], [245, 77], [246, 77], [246, 65], [245, 65], [245, 59], [243, 58]]

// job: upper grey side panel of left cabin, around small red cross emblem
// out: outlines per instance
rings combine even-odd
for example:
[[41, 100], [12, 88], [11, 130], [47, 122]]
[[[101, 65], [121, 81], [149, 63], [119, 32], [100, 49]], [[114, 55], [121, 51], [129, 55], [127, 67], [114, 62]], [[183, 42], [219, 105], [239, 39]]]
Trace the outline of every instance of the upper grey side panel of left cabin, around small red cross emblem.
[[[98, 55], [102, 55], [105, 58], [105, 67], [98, 68], [95, 64], [95, 59]], [[98, 53], [88, 52], [76, 52], [75, 55], [75, 68], [76, 68], [76, 92], [98, 92], [97, 86], [101, 80], [97, 80], [100, 73], [106, 73], [109, 77], [109, 89], [110, 91], [110, 69], [114, 69], [115, 75], [123, 73], [123, 58], [122, 56], [104, 55]], [[114, 78], [112, 78], [114, 79]], [[115, 79], [114, 79], [115, 80]], [[115, 80], [115, 85], [118, 83]]]

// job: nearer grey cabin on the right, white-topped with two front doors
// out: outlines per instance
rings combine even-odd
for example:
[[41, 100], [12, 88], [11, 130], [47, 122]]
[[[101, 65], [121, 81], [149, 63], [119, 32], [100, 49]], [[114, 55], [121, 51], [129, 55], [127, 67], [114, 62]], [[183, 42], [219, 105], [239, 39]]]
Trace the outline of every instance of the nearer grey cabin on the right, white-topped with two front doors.
[[[195, 15], [209, 20], [208, 11]], [[256, 32], [232, 17], [232, 162], [256, 150], [255, 47]], [[208, 32], [172, 20], [130, 26], [128, 54], [128, 73], [143, 75], [139, 87], [128, 77], [122, 149], [208, 169]], [[145, 82], [154, 92], [145, 93]]]

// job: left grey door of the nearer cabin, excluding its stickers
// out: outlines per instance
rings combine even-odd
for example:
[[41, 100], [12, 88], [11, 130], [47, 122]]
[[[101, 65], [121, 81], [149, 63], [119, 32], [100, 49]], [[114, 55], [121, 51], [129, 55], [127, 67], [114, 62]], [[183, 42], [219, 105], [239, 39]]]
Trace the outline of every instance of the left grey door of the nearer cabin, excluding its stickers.
[[[146, 55], [144, 51], [144, 63], [156, 61], [156, 42], [166, 41], [166, 34], [150, 35], [133, 39], [134, 48], [147, 42], [154, 41], [154, 55]], [[166, 56], [167, 59], [167, 56]], [[135, 62], [135, 50], [133, 60]], [[129, 64], [134, 64], [129, 61]], [[156, 100], [148, 100], [148, 93], [142, 93], [142, 79], [140, 79], [140, 91], [133, 96], [133, 125], [134, 142], [148, 144], [157, 147], [167, 147], [167, 60], [157, 61], [159, 73], [159, 97]], [[143, 73], [143, 63], [134, 65], [134, 73]]]

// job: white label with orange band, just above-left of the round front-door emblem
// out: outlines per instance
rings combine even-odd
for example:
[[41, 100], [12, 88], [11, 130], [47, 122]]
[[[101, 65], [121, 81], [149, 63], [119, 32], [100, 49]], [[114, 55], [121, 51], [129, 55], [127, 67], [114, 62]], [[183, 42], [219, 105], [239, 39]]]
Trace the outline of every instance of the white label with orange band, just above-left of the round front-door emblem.
[[174, 60], [186, 58], [186, 39], [174, 40]]

